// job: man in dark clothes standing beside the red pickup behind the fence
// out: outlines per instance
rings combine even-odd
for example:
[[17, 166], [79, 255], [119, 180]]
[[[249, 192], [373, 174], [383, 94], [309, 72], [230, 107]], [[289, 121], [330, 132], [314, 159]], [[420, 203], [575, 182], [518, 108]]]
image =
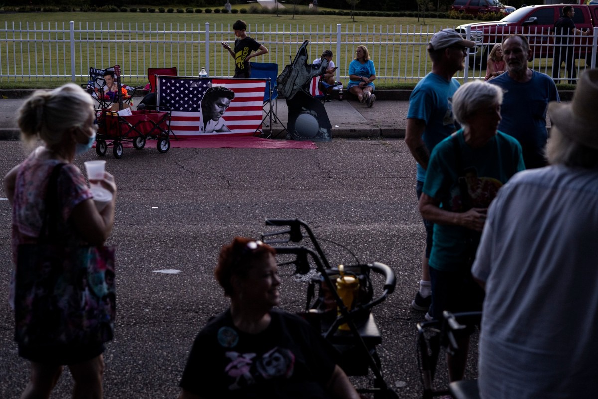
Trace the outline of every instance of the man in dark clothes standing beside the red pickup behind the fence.
[[569, 74], [569, 83], [575, 84], [577, 71], [575, 66], [575, 55], [573, 54], [573, 36], [590, 35], [590, 31], [582, 32], [575, 28], [573, 15], [575, 11], [570, 5], [563, 7], [563, 17], [554, 23], [554, 60], [553, 60], [553, 80], [559, 83], [560, 66], [565, 62], [565, 68]]

